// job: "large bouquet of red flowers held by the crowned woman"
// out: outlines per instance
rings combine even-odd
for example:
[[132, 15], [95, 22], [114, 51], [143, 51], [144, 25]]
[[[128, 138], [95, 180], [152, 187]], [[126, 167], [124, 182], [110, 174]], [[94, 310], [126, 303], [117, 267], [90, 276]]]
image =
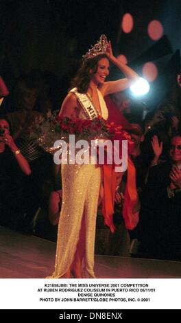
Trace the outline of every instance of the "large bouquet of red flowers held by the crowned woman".
[[54, 148], [56, 140], [69, 142], [69, 135], [75, 135], [77, 140], [110, 139], [121, 137], [124, 140], [131, 140], [130, 135], [122, 130], [121, 126], [115, 126], [114, 122], [108, 124], [102, 118], [93, 120], [79, 118], [59, 118], [57, 111], [39, 118], [32, 125], [31, 135], [36, 137], [38, 145], [48, 153], [55, 153], [60, 146]]

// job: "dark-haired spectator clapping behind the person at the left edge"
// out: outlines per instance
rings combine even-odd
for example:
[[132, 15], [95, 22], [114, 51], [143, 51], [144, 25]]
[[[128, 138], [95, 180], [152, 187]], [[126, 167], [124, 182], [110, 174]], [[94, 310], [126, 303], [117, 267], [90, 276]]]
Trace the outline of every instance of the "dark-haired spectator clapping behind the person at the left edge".
[[[7, 114], [12, 124], [12, 133], [16, 144], [29, 161], [32, 175], [25, 180], [25, 192], [22, 208], [25, 209], [25, 231], [32, 231], [32, 220], [38, 208], [43, 204], [43, 183], [51, 177], [52, 156], [45, 153], [32, 135], [32, 124], [42, 117], [35, 111], [38, 104], [38, 89], [34, 78], [23, 77], [14, 89], [14, 108], [16, 111]], [[22, 221], [23, 223], [23, 221]]]

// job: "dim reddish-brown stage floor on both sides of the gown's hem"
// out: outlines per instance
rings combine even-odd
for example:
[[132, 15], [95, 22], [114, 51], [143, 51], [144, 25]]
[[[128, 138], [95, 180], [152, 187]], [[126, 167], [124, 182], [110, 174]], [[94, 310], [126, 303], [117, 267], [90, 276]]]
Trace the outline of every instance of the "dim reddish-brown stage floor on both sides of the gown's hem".
[[[56, 243], [0, 226], [0, 278], [45, 278]], [[181, 262], [95, 255], [97, 278], [181, 278]]]

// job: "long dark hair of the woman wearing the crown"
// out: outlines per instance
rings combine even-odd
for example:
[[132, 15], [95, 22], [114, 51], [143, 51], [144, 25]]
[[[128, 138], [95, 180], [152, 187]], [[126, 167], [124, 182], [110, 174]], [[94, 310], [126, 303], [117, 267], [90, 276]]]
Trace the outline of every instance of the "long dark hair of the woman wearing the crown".
[[[73, 78], [71, 82], [71, 88], [77, 87], [77, 91], [80, 93], [86, 93], [88, 90], [88, 85], [92, 76], [97, 72], [98, 62], [101, 58], [107, 58], [106, 54], [100, 54], [95, 56], [94, 58], [89, 58], [85, 60], [82, 64], [82, 67], [77, 71], [77, 75]], [[92, 73], [90, 73], [90, 69], [92, 69]]]

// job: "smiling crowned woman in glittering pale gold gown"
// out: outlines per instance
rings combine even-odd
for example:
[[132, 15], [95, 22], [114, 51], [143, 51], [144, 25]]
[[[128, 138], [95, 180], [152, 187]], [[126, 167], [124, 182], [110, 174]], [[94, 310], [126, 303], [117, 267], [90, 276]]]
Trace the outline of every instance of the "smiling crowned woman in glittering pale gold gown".
[[[110, 62], [125, 78], [106, 82]], [[104, 96], [130, 87], [138, 75], [112, 54], [110, 42], [99, 43], [84, 56], [60, 109], [60, 117], [106, 120]], [[95, 278], [94, 245], [101, 168], [96, 164], [62, 164], [62, 210], [58, 225], [55, 270], [49, 278]], [[83, 270], [84, 269], [84, 270]]]

